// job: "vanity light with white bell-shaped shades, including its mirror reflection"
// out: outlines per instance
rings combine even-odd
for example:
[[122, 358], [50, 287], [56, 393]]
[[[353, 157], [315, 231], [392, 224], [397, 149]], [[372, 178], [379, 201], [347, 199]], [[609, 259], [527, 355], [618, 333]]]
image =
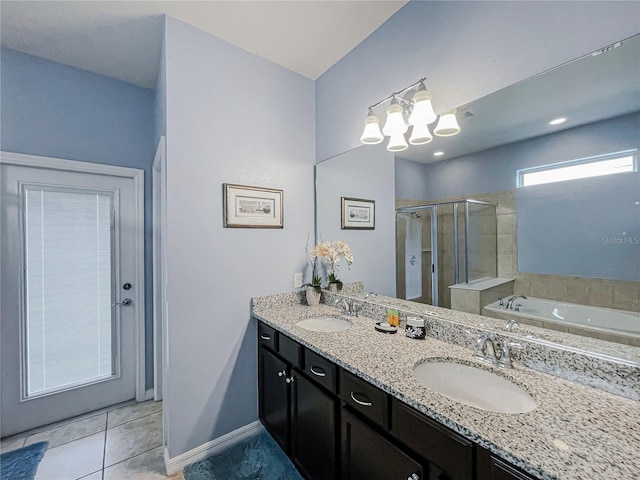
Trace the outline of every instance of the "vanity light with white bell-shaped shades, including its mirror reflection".
[[[433, 136], [429, 131], [429, 125], [434, 123], [438, 116], [433, 111], [431, 105], [431, 92], [427, 90], [424, 84], [425, 78], [421, 78], [413, 85], [394, 92], [387, 98], [374, 103], [369, 107], [367, 118], [364, 121], [364, 131], [360, 137], [360, 141], [366, 145], [375, 145], [389, 137], [387, 150], [390, 152], [401, 152], [408, 147], [406, 134], [411, 127], [409, 135], [409, 143], [411, 145], [424, 145], [433, 140]], [[411, 97], [411, 100], [402, 96], [410, 90], [418, 87], [417, 91]], [[387, 118], [380, 130], [380, 119], [375, 114], [374, 108], [388, 102]], [[438, 126], [434, 130], [434, 134], [439, 136], [451, 136], [460, 131], [460, 126], [456, 121], [455, 110], [449, 111], [440, 117]]]

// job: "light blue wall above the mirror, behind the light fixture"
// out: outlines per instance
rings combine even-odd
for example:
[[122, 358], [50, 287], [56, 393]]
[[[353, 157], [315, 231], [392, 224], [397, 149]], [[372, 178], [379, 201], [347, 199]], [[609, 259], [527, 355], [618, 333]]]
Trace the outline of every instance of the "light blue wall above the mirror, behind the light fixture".
[[640, 2], [409, 2], [317, 80], [317, 161], [357, 147], [367, 107], [421, 77], [440, 113], [636, 34], [638, 18]]

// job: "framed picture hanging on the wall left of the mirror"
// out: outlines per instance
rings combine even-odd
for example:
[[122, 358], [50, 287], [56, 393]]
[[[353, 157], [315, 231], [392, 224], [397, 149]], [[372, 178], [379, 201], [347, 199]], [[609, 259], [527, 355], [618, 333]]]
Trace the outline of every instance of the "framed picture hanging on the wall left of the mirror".
[[224, 226], [283, 228], [282, 190], [222, 184]]

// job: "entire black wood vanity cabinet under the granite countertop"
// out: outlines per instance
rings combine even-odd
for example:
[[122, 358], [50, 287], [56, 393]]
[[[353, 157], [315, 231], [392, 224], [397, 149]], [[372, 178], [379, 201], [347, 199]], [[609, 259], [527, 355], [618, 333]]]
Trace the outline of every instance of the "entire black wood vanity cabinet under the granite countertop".
[[258, 324], [260, 420], [307, 480], [535, 480]]

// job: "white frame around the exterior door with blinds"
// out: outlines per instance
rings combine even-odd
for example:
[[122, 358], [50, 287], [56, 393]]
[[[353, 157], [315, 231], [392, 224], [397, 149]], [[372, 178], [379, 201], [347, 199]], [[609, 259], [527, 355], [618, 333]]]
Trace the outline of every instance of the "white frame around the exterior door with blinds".
[[43, 157], [38, 155], [27, 155], [24, 153], [14, 153], [0, 151], [0, 163], [5, 165], [16, 165], [32, 168], [46, 168], [67, 172], [92, 173], [98, 175], [111, 175], [116, 177], [130, 178], [133, 180], [135, 195], [135, 226], [134, 235], [134, 255], [135, 255], [135, 275], [134, 281], [138, 285], [139, 300], [135, 311], [134, 345], [135, 345], [135, 393], [136, 401], [142, 402], [147, 399], [145, 385], [145, 309], [144, 309], [144, 170], [130, 167], [117, 167], [104, 165], [101, 163], [81, 162], [77, 160], [65, 160], [62, 158]]

